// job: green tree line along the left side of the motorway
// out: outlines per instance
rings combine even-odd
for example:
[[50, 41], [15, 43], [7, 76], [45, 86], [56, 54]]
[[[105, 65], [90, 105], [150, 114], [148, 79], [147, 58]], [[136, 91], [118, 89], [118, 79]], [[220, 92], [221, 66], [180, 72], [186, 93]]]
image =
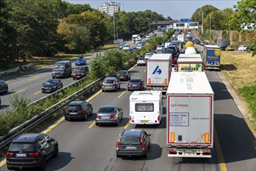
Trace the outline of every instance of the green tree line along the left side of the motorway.
[[[116, 12], [119, 38], [132, 33], [149, 33], [162, 15], [144, 12]], [[114, 40], [113, 16], [90, 5], [61, 0], [0, 1], [0, 67], [31, 56], [54, 56], [59, 52], [85, 53]]]

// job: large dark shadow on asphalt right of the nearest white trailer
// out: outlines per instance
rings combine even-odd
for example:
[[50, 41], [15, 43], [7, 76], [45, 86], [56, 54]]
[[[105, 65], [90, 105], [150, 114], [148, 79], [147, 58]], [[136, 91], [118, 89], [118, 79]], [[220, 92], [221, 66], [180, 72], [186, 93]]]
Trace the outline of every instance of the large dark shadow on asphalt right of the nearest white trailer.
[[256, 139], [244, 118], [223, 113], [216, 113], [214, 117], [225, 162], [255, 159]]

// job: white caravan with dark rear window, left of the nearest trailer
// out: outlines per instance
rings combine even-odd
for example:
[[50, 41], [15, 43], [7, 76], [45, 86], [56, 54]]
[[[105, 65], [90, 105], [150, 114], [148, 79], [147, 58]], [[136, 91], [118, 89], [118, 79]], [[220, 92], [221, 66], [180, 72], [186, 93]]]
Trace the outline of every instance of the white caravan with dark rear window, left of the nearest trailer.
[[135, 91], [130, 95], [130, 124], [160, 124], [163, 115], [161, 91]]

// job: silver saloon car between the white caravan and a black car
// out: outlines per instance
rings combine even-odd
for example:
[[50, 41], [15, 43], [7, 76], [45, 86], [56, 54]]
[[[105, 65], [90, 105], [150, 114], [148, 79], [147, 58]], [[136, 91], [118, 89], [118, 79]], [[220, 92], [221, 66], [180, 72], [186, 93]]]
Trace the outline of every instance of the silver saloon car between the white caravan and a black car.
[[105, 105], [100, 106], [96, 113], [95, 124], [116, 124], [123, 119], [123, 110], [119, 106]]

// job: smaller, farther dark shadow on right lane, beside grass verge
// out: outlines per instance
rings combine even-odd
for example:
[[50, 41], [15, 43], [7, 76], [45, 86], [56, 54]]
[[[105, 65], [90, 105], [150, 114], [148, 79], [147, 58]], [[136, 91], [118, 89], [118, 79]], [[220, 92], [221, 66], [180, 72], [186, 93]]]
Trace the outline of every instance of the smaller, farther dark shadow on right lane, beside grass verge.
[[230, 92], [228, 92], [226, 86], [222, 82], [210, 82], [210, 85], [214, 92], [214, 100], [233, 99]]

